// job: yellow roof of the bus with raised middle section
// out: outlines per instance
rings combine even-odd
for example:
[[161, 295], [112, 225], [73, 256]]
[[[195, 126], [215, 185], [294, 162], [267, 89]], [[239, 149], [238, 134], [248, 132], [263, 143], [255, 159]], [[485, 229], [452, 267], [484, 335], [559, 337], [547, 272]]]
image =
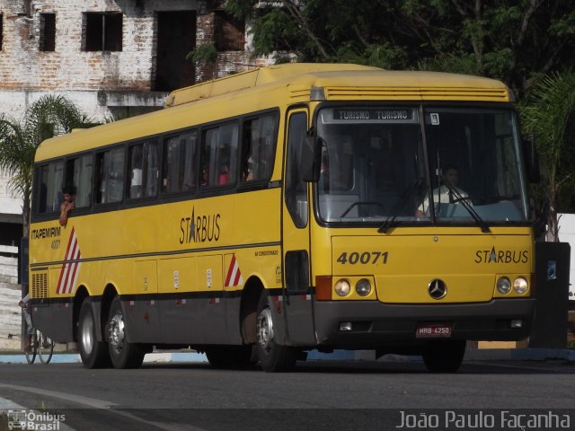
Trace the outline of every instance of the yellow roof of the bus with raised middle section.
[[[313, 89], [320, 90], [315, 92], [319, 99], [314, 99]], [[175, 90], [164, 110], [48, 139], [40, 144], [36, 161], [313, 100], [505, 102], [510, 101], [510, 93], [500, 81], [472, 75], [386, 71], [351, 64], [257, 67]]]

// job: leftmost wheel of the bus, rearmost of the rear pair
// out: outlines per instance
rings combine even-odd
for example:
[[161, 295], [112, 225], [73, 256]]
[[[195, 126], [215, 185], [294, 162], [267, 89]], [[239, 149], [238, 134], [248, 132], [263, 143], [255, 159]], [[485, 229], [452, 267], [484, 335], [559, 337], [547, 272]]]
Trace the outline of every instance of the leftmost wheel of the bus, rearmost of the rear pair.
[[108, 345], [98, 341], [96, 330], [98, 321], [93, 314], [90, 298], [87, 297], [80, 308], [78, 319], [78, 350], [82, 364], [86, 368], [105, 368], [110, 366]]

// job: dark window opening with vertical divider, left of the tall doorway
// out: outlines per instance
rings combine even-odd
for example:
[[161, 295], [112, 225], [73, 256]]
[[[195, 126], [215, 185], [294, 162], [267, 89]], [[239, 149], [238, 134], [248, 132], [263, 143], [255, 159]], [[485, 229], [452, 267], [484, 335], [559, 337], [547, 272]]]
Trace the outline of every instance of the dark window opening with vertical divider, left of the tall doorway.
[[84, 51], [121, 51], [122, 14], [84, 13]]

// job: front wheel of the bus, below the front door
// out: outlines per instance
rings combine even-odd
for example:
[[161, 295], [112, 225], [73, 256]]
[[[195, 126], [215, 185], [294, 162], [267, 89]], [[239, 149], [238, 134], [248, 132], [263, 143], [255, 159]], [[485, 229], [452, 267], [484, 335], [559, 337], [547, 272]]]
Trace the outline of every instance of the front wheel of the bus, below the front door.
[[261, 369], [268, 373], [292, 371], [296, 366], [296, 349], [276, 342], [274, 321], [265, 291], [261, 293], [258, 303], [256, 332]]

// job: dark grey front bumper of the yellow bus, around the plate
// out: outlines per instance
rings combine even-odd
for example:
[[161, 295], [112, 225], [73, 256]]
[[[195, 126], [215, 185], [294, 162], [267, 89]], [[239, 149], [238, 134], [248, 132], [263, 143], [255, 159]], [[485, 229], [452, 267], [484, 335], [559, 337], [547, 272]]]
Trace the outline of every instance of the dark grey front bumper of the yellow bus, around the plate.
[[469, 340], [519, 340], [531, 330], [534, 298], [488, 303], [392, 304], [378, 301], [316, 301], [315, 333], [321, 347], [378, 348], [421, 344], [421, 326], [445, 325], [448, 336]]

